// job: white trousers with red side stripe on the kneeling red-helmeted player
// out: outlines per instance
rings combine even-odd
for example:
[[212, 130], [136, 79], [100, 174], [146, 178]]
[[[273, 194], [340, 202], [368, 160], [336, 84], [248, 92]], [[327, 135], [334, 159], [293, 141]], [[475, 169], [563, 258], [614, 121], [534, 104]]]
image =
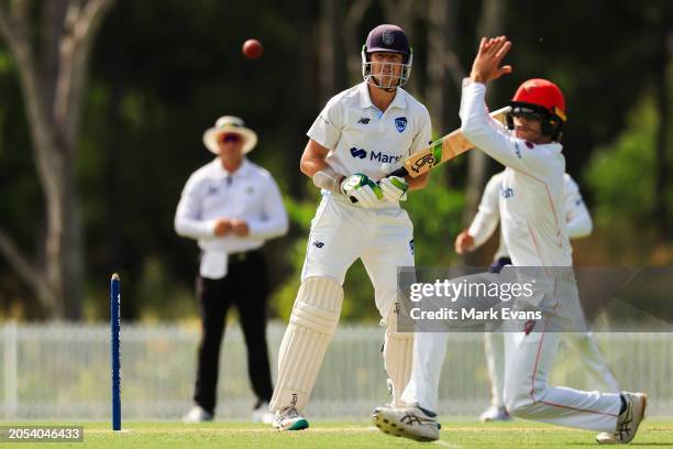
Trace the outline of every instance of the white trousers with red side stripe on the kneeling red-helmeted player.
[[[564, 288], [563, 300], [578, 304], [575, 286], [566, 283]], [[510, 414], [525, 419], [614, 431], [621, 407], [619, 394], [548, 385], [563, 333], [547, 329], [563, 329], [565, 326], [556, 319], [545, 318], [528, 335], [521, 331], [506, 336], [505, 406]], [[405, 403], [438, 409], [438, 388], [448, 337], [448, 332], [416, 333], [411, 379], [401, 396]]]

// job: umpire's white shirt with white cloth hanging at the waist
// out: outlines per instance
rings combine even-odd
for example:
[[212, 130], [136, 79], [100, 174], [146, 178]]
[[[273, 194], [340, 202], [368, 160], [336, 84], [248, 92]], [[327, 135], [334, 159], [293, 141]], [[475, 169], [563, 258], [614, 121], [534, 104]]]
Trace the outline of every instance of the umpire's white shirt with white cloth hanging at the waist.
[[[247, 222], [250, 233], [238, 237], [214, 234], [221, 219]], [[198, 239], [200, 274], [221, 278], [227, 274], [228, 254], [256, 250], [265, 240], [287, 232], [287, 212], [271, 173], [243, 160], [233, 173], [220, 158], [197, 169], [187, 180], [175, 213], [175, 230], [183, 237]]]

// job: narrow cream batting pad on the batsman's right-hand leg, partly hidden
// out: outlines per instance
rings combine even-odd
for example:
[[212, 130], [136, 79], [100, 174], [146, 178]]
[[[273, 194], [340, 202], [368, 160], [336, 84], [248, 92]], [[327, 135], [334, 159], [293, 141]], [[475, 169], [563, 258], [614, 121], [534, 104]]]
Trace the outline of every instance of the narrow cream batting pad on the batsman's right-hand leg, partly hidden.
[[413, 360], [413, 333], [397, 331], [397, 308], [390, 307], [386, 324], [384, 342], [384, 363], [388, 379], [393, 384], [393, 405], [400, 406], [401, 394], [411, 377], [411, 361]]

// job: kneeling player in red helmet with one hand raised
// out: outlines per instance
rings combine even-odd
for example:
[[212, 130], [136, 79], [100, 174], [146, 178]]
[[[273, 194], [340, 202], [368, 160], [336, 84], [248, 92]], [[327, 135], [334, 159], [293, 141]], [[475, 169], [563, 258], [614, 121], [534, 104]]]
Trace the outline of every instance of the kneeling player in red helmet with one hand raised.
[[[505, 36], [482, 39], [470, 78], [463, 84], [462, 131], [479, 150], [507, 168], [499, 199], [503, 238], [515, 267], [532, 267], [544, 288], [541, 297], [554, 314], [533, 328], [523, 326], [519, 341], [506, 339], [505, 406], [515, 417], [596, 430], [598, 442], [626, 443], [644, 417], [643, 393], [584, 392], [548, 384], [566, 307], [578, 305], [572, 277], [572, 249], [563, 208], [561, 128], [565, 100], [545, 79], [530, 79], [515, 94], [508, 127], [490, 119], [485, 96], [488, 81], [511, 73], [500, 66], [511, 43]], [[545, 273], [545, 275], [544, 275]], [[477, 275], [478, 276], [478, 275]], [[501, 276], [501, 274], [492, 275]], [[467, 304], [474, 298], [457, 298]], [[496, 299], [498, 302], [498, 299]], [[446, 350], [446, 332], [415, 336], [411, 379], [402, 393], [406, 407], [379, 407], [374, 423], [383, 431], [418, 439], [439, 439], [437, 396]], [[607, 435], [605, 435], [607, 434]]]

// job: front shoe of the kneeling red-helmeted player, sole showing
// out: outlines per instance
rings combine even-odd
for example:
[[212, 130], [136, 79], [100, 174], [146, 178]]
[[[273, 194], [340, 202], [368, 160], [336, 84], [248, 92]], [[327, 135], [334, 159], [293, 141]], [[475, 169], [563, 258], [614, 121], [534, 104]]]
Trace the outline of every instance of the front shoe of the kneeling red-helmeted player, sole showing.
[[437, 415], [430, 416], [416, 405], [405, 407], [377, 407], [372, 415], [380, 431], [416, 441], [439, 439], [440, 425]]

